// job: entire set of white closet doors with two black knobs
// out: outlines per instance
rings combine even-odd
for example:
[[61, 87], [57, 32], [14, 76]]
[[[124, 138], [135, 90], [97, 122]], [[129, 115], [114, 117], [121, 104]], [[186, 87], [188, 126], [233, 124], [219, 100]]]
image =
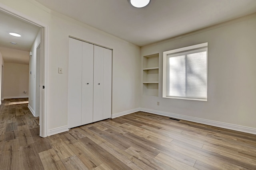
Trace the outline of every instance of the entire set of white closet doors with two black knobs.
[[68, 128], [112, 113], [112, 50], [69, 38]]

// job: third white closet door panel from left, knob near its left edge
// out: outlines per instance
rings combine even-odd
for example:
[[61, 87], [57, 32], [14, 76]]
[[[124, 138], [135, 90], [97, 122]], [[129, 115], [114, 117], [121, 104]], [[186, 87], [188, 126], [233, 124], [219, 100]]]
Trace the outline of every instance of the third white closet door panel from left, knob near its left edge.
[[94, 45], [93, 121], [103, 119], [104, 48]]

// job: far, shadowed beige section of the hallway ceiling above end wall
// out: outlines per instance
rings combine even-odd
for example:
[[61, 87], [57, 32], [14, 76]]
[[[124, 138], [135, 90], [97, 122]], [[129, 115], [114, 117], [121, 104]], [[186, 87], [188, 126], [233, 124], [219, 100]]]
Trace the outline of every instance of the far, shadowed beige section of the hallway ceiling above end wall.
[[29, 64], [29, 52], [0, 47], [5, 63]]

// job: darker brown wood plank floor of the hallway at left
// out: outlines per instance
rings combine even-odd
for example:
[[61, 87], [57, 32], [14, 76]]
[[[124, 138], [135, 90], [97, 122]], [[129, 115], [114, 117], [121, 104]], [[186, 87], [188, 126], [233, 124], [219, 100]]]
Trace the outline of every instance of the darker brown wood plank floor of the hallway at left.
[[50, 147], [48, 142], [39, 137], [39, 117], [34, 117], [28, 109], [28, 98], [3, 100], [0, 106], [0, 169], [43, 169], [38, 166], [42, 163], [35, 153], [49, 149], [47, 146]]

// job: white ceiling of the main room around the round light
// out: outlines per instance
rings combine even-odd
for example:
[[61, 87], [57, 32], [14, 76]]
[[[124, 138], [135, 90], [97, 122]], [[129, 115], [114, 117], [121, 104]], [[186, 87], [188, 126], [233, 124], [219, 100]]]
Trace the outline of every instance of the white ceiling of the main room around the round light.
[[139, 46], [256, 12], [256, 0], [36, 0], [53, 11]]

